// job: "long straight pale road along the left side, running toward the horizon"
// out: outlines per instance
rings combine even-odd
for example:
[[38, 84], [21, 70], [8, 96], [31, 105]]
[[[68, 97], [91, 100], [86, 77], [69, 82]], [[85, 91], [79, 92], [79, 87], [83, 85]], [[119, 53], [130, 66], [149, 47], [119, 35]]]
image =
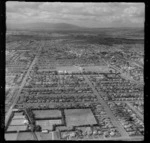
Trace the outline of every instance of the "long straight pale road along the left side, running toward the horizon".
[[9, 120], [9, 117], [10, 117], [10, 115], [11, 115], [11, 113], [12, 113], [12, 109], [13, 109], [13, 107], [15, 106], [17, 100], [19, 99], [21, 90], [22, 90], [24, 84], [26, 83], [26, 79], [27, 79], [27, 77], [28, 77], [28, 75], [29, 75], [29, 73], [30, 73], [30, 71], [31, 71], [31, 69], [32, 69], [32, 67], [33, 67], [33, 65], [35, 64], [36, 60], [38, 59], [38, 56], [39, 56], [39, 52], [40, 52], [40, 51], [41, 51], [41, 47], [39, 48], [38, 54], [37, 54], [37, 55], [35, 56], [35, 58], [33, 59], [31, 65], [30, 65], [30, 67], [29, 67], [29, 69], [28, 69], [28, 71], [27, 71], [27, 73], [26, 73], [26, 75], [25, 75], [25, 77], [24, 77], [24, 79], [23, 79], [21, 85], [20, 85], [19, 90], [18, 90], [18, 92], [16, 93], [16, 96], [14, 97], [15, 99], [14, 99], [14, 101], [13, 101], [11, 107], [9, 108], [9, 110], [8, 110], [8, 112], [7, 112], [7, 114], [6, 114], [5, 125], [7, 125], [7, 122], [8, 122], [8, 120]]

